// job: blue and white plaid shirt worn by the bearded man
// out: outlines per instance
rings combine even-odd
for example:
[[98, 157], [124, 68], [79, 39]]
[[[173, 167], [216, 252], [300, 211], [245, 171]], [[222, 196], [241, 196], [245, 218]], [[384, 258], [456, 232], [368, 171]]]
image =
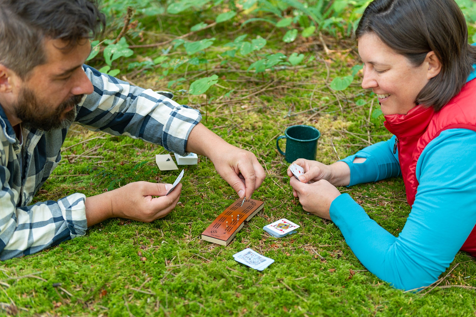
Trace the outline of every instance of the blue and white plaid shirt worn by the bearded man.
[[[186, 154], [188, 135], [201, 119], [198, 110], [92, 67], [84, 65], [83, 69], [94, 92], [76, 106], [77, 124], [93, 131], [129, 135]], [[29, 206], [58, 166], [68, 128], [44, 132], [23, 127], [19, 141], [0, 106], [0, 130], [0, 259], [35, 253], [84, 235], [84, 194]]]

